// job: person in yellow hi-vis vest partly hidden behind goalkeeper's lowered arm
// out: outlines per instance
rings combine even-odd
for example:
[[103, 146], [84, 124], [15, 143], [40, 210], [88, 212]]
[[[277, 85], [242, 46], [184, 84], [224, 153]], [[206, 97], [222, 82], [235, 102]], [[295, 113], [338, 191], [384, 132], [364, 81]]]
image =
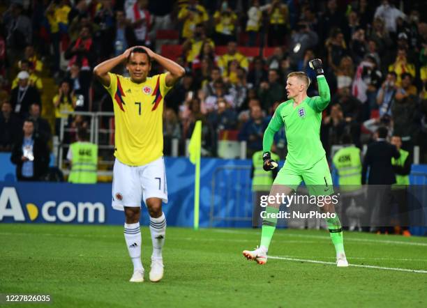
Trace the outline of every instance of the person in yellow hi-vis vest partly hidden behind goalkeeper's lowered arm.
[[[262, 160], [262, 151], [253, 153], [252, 156], [252, 169], [250, 171], [250, 177], [252, 178], [252, 202], [253, 202], [253, 214], [252, 214], [252, 226], [257, 227], [262, 225], [261, 212], [263, 208], [260, 206], [261, 197], [268, 196], [271, 185], [273, 185], [274, 178], [278, 174], [278, 168], [274, 169], [273, 172], [265, 171], [262, 167], [264, 160]], [[271, 158], [276, 162], [280, 160], [280, 157], [271, 153]]]

